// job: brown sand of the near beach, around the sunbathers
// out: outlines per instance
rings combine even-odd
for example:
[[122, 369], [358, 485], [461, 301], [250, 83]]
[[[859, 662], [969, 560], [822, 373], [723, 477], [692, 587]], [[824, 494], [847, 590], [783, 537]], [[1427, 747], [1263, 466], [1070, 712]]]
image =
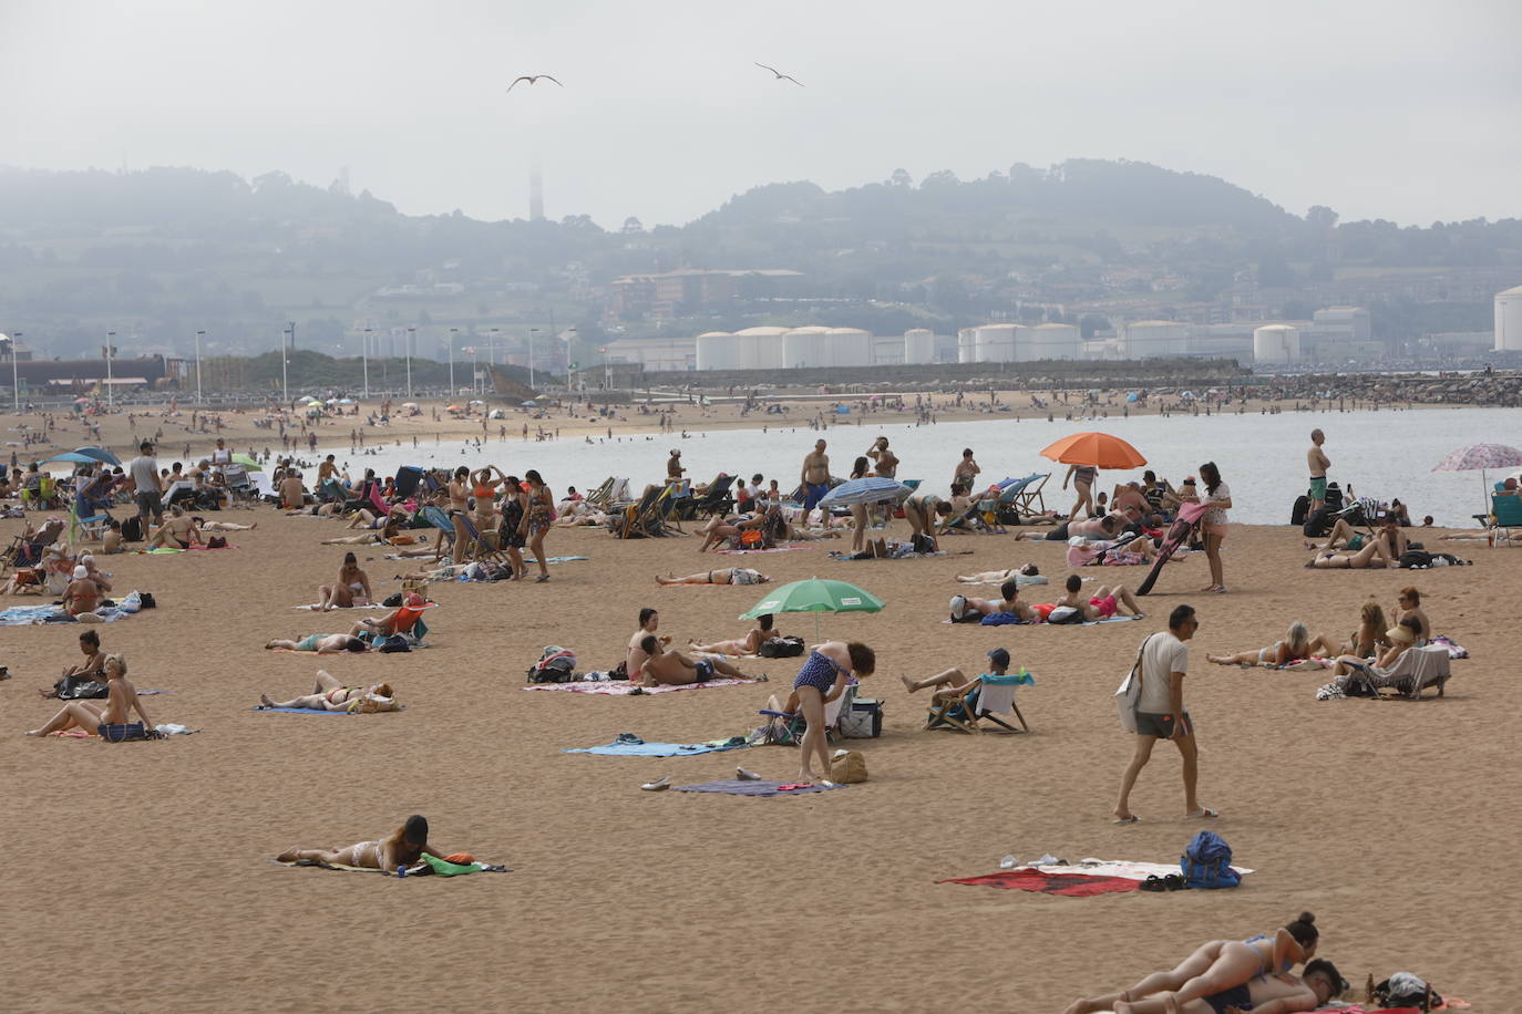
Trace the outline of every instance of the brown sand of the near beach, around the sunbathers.
[[[318, 660], [260, 646], [349, 620], [291, 608], [333, 576], [345, 547], [317, 541], [339, 523], [269, 508], [222, 517], [256, 517], [259, 529], [231, 534], [236, 549], [224, 552], [110, 558], [117, 588], [152, 591], [160, 608], [96, 628], [128, 655], [139, 687], [172, 692], [146, 699], [157, 722], [202, 733], [122, 746], [23, 737], [55, 708], [37, 690], [78, 657], [78, 628], [0, 628], [0, 664], [14, 675], [0, 683], [11, 856], [0, 1009], [1059, 1011], [1301, 909], [1317, 912], [1321, 953], [1348, 979], [1408, 968], [1479, 1012], [1511, 1009], [1522, 555], [1478, 546], [1463, 550], [1472, 569], [1310, 573], [1297, 531], [1233, 528], [1227, 596], [1195, 594], [1208, 584], [1195, 556], [1169, 567], [1143, 622], [980, 628], [941, 623], [951, 576], [1029, 559], [1059, 581], [1059, 544], [966, 535], [947, 538], [956, 555], [944, 558], [833, 562], [833, 543], [699, 556], [693, 538], [556, 531], [551, 553], [591, 561], [554, 566], [545, 585], [437, 584], [435, 648]], [[18, 529], [3, 521], [0, 537]], [[361, 559], [380, 590], [396, 587], [400, 564]], [[756, 724], [796, 660], [746, 663], [772, 686], [641, 698], [522, 690], [543, 645], [575, 649], [583, 667], [615, 664], [642, 605], [661, 610], [679, 643], [743, 634], [735, 616], [756, 588], [651, 581], [734, 562], [776, 581], [848, 579], [889, 602], [877, 616], [823, 620], [828, 635], [878, 652], [863, 693], [886, 701], [884, 734], [851, 743], [869, 783], [805, 798], [648, 794], [638, 786], [661, 774], [702, 781], [737, 763], [790, 778], [796, 751], [560, 753], [622, 731], [702, 740]], [[1132, 585], [1143, 576], [1084, 573]], [[1370, 594], [1388, 608], [1406, 584], [1475, 655], [1454, 663], [1441, 701], [1318, 702], [1321, 673], [1204, 660], [1269, 645], [1294, 619], [1345, 635]], [[1166, 748], [1132, 798], [1143, 822], [1110, 822], [1131, 749], [1110, 695], [1180, 602], [1202, 620], [1186, 695], [1201, 798], [1222, 812], [1208, 827], [1259, 873], [1236, 891], [1096, 898], [936, 885], [991, 873], [1006, 853], [1169, 862], [1205, 825], [1181, 815]], [[781, 628], [813, 640], [811, 619]], [[1032, 733], [921, 731], [925, 698], [910, 698], [898, 673], [979, 670], [994, 646], [1036, 677], [1020, 696]], [[262, 692], [307, 692], [320, 664], [393, 681], [406, 710], [250, 710]], [[294, 844], [384, 835], [414, 812], [437, 845], [514, 873], [397, 882], [269, 862]]]

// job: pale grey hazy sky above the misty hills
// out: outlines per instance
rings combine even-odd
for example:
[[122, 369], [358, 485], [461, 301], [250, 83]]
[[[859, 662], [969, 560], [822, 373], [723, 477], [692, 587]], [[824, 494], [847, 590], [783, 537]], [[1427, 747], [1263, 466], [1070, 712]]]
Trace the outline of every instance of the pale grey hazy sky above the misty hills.
[[[0, 0], [0, 161], [279, 169], [682, 223], [763, 182], [1131, 158], [1303, 214], [1522, 216], [1517, 0]], [[804, 82], [778, 82], [752, 61]], [[519, 85], [517, 74], [565, 82]]]

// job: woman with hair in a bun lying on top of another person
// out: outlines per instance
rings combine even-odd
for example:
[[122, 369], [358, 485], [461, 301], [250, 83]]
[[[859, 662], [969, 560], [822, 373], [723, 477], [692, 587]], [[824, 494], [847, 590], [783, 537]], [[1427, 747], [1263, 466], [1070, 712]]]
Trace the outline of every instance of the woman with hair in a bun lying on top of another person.
[[1283, 978], [1289, 970], [1317, 953], [1317, 917], [1301, 912], [1300, 918], [1275, 930], [1272, 936], [1250, 940], [1213, 940], [1192, 953], [1172, 971], [1154, 971], [1120, 994], [1116, 1014], [1132, 1014], [1132, 999], [1161, 994], [1163, 1009], [1173, 1014], [1190, 1000], [1219, 1000], [1240, 1006], [1247, 1002], [1248, 984], [1268, 976]]

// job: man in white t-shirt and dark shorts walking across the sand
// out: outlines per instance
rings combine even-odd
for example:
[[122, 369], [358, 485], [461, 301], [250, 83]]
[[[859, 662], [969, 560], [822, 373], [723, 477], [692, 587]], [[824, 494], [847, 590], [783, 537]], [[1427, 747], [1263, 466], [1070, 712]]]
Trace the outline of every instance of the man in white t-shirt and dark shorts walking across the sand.
[[1195, 798], [1195, 783], [1199, 778], [1199, 749], [1195, 745], [1195, 722], [1184, 707], [1184, 673], [1189, 670], [1189, 648], [1184, 645], [1199, 620], [1195, 608], [1180, 605], [1167, 617], [1167, 631], [1152, 634], [1142, 648], [1142, 696], [1137, 701], [1137, 748], [1120, 778], [1120, 800], [1116, 803], [1116, 824], [1135, 824], [1140, 818], [1131, 812], [1131, 787], [1142, 768], [1152, 759], [1152, 746], [1160, 739], [1170, 739], [1184, 759], [1184, 816], [1219, 816], [1215, 810], [1199, 806]]

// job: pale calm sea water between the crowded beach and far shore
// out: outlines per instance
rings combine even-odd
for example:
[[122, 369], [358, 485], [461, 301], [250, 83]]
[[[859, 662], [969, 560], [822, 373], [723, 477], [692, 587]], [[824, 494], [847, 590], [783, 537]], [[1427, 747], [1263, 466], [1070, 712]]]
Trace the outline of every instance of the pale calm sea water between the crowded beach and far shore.
[[[1280, 415], [1131, 415], [1122, 418], [1111, 410], [1108, 418], [1091, 420], [1014, 420], [991, 418], [965, 423], [915, 426], [913, 420], [877, 414], [872, 417], [842, 415], [828, 430], [769, 426], [761, 429], [689, 430], [680, 433], [619, 435], [615, 424], [612, 439], [565, 436], [557, 441], [522, 441], [507, 420], [508, 439], [495, 436], [481, 448], [457, 438], [435, 442], [402, 438], [402, 445], [374, 444], [374, 453], [349, 453], [349, 448], [326, 447], [320, 453], [338, 455], [350, 476], [358, 480], [365, 468], [379, 476], [396, 474], [400, 465], [423, 468], [472, 470], [495, 464], [508, 474], [522, 476], [537, 468], [556, 497], [568, 485], [577, 490], [595, 488], [609, 476], [627, 477], [638, 494], [647, 482], [665, 477], [665, 462], [671, 448], [682, 450], [682, 464], [694, 482], [708, 482], [720, 471], [749, 479], [755, 473], [778, 479], [784, 491], [793, 490], [802, 473], [804, 455], [814, 441], [828, 441], [829, 467], [836, 476], [848, 476], [851, 464], [866, 453], [872, 441], [887, 436], [893, 453], [903, 461], [900, 479], [921, 479], [924, 488], [947, 493], [951, 474], [962, 459], [962, 448], [973, 448], [982, 465], [982, 483], [1006, 476], [1052, 473], [1044, 488], [1046, 506], [1067, 512], [1073, 494], [1062, 491], [1067, 465], [1058, 465], [1040, 452], [1071, 433], [1100, 430], [1129, 441], [1143, 458], [1145, 468], [1169, 479], [1175, 486], [1187, 476], [1198, 476], [1199, 465], [1216, 462], [1221, 477], [1231, 490], [1230, 520], [1248, 524], [1288, 524], [1295, 497], [1306, 493], [1306, 450], [1310, 430], [1326, 432], [1326, 455], [1332, 459], [1329, 477], [1344, 491], [1377, 500], [1399, 499], [1417, 524], [1431, 514], [1446, 528], [1472, 526], [1470, 515], [1485, 508], [1481, 473], [1432, 471], [1449, 452], [1467, 444], [1495, 442], [1522, 445], [1522, 409], [1412, 409], [1361, 412], [1285, 412]], [[542, 423], [552, 430], [554, 421]], [[370, 430], [368, 439], [384, 439], [384, 432]], [[1119, 482], [1142, 477], [1142, 468], [1102, 471], [1094, 493], [1111, 491]], [[1495, 482], [1514, 468], [1489, 473]]]

